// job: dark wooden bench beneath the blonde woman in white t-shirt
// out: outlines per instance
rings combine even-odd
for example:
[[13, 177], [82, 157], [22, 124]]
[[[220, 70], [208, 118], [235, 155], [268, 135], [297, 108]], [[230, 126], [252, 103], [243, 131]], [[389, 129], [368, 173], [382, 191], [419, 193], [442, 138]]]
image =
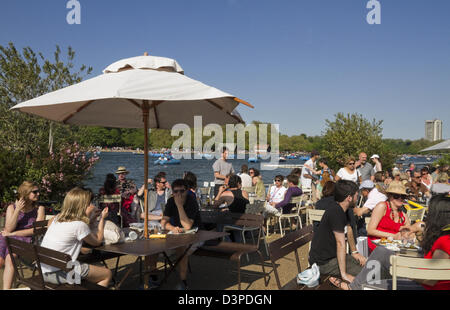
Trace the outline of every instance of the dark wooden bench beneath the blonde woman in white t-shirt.
[[[18, 278], [18, 281], [25, 286], [28, 286], [32, 290], [104, 290], [106, 288], [82, 280], [81, 284], [61, 284], [55, 285], [44, 282], [42, 275], [41, 263], [47, 264], [59, 268], [65, 272], [70, 272], [71, 269], [67, 267], [67, 263], [71, 261], [71, 257], [68, 254], [58, 251], [46, 249], [32, 243], [23, 242], [14, 238], [6, 238], [9, 253], [11, 253], [11, 260], [14, 265], [14, 271]], [[30, 277], [25, 277], [22, 273], [18, 272], [20, 267], [20, 260], [16, 257], [21, 257], [22, 260], [30, 262], [36, 268]], [[37, 274], [36, 274], [37, 272]]]

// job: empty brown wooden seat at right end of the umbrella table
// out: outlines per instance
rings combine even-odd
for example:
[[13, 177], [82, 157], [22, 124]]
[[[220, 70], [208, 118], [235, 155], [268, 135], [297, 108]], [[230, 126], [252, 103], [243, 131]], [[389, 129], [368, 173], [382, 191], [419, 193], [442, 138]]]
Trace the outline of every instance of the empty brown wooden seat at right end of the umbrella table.
[[[201, 211], [202, 223], [216, 223], [223, 225], [238, 225], [249, 228], [260, 228], [264, 224], [264, 217], [255, 214], [241, 214], [221, 211]], [[237, 264], [238, 289], [241, 289], [241, 257], [244, 254], [257, 253], [261, 259], [261, 266], [264, 275], [264, 283], [267, 286], [266, 271], [264, 269], [264, 258], [259, 251], [258, 244], [243, 244], [237, 242], [217, 241], [215, 244], [206, 243], [198, 248], [193, 255], [207, 256], [220, 259], [227, 259]]]

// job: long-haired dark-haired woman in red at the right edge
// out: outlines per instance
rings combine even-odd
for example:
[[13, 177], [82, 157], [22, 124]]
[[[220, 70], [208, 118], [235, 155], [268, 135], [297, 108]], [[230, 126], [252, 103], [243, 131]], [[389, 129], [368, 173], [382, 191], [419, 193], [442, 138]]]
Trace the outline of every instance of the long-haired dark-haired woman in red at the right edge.
[[[426, 253], [424, 258], [449, 259], [450, 258], [450, 197], [446, 194], [436, 195], [430, 201], [429, 213], [425, 220], [424, 238], [420, 245]], [[343, 290], [361, 290], [368, 279], [373, 276], [374, 263], [378, 264], [380, 274], [380, 286], [384, 289], [392, 289], [392, 276], [390, 275], [390, 257], [394, 252], [385, 247], [377, 247], [369, 256], [366, 266], [354, 278], [351, 283], [341, 279], [330, 277], [330, 282]], [[373, 284], [374, 285], [374, 284]], [[450, 280], [412, 280], [406, 278], [397, 279], [397, 289], [407, 290], [450, 290]]]

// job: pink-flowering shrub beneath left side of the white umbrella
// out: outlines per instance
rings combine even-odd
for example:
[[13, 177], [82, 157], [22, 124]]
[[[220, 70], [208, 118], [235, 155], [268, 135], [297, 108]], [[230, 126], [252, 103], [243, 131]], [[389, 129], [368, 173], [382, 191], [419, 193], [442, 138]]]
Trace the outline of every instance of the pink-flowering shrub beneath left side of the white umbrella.
[[65, 194], [76, 186], [82, 186], [94, 164], [95, 154], [87, 155], [78, 143], [62, 146], [44, 160], [41, 178], [41, 199], [62, 202]]

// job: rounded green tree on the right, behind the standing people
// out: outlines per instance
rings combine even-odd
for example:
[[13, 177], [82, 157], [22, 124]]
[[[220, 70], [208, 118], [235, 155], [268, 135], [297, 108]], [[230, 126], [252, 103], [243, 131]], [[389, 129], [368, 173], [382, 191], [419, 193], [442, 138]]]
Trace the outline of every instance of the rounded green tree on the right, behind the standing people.
[[358, 158], [360, 152], [368, 156], [378, 154], [383, 163], [383, 169], [393, 164], [393, 154], [382, 141], [383, 121], [371, 122], [360, 114], [338, 113], [334, 121], [326, 120], [327, 129], [323, 137], [322, 156], [327, 157], [333, 169], [344, 165], [347, 156]]

